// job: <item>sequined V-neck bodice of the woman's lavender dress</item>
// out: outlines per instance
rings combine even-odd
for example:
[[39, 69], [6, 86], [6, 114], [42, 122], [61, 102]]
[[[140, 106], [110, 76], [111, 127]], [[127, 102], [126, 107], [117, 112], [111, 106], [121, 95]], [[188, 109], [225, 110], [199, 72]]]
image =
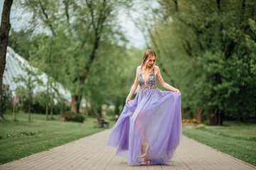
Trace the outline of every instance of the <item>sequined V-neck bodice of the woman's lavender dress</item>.
[[141, 89], [156, 89], [156, 74], [154, 72], [144, 81], [139, 70], [138, 82]]

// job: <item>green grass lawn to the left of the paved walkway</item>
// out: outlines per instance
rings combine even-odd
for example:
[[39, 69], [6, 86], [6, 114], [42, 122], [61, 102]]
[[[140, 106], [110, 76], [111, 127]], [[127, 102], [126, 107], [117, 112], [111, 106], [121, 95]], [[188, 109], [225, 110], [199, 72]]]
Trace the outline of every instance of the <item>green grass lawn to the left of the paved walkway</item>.
[[[14, 122], [11, 113], [5, 113], [7, 121], [0, 122], [0, 164], [11, 162], [30, 154], [63, 145], [81, 137], [105, 130], [96, 128], [96, 118], [86, 118], [84, 123], [59, 122], [60, 115], [54, 115], [53, 120], [46, 120], [45, 115], [31, 114], [28, 122], [28, 113], [16, 113]], [[110, 128], [114, 121], [110, 117]]]

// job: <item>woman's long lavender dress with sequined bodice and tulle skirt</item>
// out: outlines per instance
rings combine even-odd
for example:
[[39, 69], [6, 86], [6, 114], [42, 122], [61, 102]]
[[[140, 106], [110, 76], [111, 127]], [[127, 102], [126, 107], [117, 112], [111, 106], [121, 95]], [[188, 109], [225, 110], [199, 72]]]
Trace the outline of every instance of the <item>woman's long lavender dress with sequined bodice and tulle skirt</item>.
[[146, 141], [151, 164], [169, 164], [182, 141], [181, 94], [157, 89], [154, 72], [144, 81], [139, 69], [138, 82], [140, 90], [124, 106], [107, 145], [117, 147], [117, 156], [128, 164], [139, 164]]

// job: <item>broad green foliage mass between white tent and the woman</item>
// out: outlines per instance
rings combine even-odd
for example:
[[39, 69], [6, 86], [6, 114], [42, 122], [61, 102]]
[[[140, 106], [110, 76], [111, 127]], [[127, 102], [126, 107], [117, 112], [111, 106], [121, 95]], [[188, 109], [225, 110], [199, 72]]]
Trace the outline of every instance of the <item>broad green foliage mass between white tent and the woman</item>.
[[[78, 96], [75, 103], [85, 96], [100, 108], [107, 101], [126, 98], [132, 74], [127, 71], [135, 70], [137, 64], [131, 62], [134, 56], [127, 58], [125, 45], [120, 45], [127, 40], [115, 13], [132, 6], [132, 1], [16, 1], [16, 6], [33, 13], [32, 27], [41, 26], [48, 33], [27, 34], [31, 30], [27, 26], [26, 31], [10, 35], [10, 45], [29, 46], [33, 66]], [[16, 37], [27, 39], [26, 47]]]

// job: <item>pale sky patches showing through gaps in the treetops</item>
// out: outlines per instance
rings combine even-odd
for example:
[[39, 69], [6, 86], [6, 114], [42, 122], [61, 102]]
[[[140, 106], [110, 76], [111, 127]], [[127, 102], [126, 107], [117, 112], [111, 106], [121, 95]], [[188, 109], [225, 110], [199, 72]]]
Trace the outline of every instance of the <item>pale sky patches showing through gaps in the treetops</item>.
[[[137, 3], [136, 6], [139, 6], [138, 1], [135, 1], [135, 4], [136, 3]], [[3, 6], [4, 6], [4, 0], [0, 0], [0, 16], [3, 10]], [[137, 17], [139, 13], [140, 11], [138, 8], [137, 11], [131, 11], [131, 16]], [[20, 16], [21, 19], [17, 19], [18, 16]], [[24, 25], [24, 23], [26, 24], [27, 17], [29, 17], [28, 14], [26, 15], [22, 14], [21, 12], [15, 10], [14, 8], [11, 8], [11, 15], [10, 15], [11, 28], [14, 28], [14, 30], [20, 30]], [[140, 30], [136, 28], [133, 21], [129, 16], [127, 16], [125, 11], [119, 11], [118, 20], [120, 25], [122, 26], [124, 35], [129, 40], [129, 43], [127, 46], [130, 47], [131, 45], [133, 45], [134, 47], [141, 48], [141, 49], [145, 47], [146, 43], [142, 33], [140, 32]], [[0, 18], [0, 21], [1, 21], [1, 18]]]

